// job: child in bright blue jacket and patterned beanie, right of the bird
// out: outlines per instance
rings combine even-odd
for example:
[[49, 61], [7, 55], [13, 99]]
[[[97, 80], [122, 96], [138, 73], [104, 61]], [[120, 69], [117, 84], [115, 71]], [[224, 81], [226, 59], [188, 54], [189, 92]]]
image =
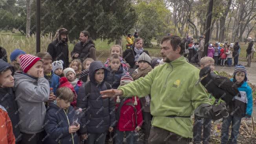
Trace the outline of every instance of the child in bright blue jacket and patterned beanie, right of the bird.
[[[247, 70], [244, 66], [236, 66], [231, 79], [240, 92], [241, 97], [236, 96], [234, 109], [229, 117], [223, 118], [221, 129], [221, 144], [236, 144], [242, 117], [250, 118], [252, 115], [252, 88], [247, 84]], [[232, 131], [229, 139], [229, 126], [232, 122]]]

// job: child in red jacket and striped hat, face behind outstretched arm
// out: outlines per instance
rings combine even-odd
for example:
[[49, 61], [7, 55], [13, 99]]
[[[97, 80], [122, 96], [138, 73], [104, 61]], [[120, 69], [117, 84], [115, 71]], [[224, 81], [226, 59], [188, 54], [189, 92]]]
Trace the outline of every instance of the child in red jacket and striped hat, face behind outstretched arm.
[[[132, 82], [130, 75], [124, 75], [121, 78], [120, 86]], [[128, 144], [134, 144], [134, 133], [141, 129], [143, 117], [141, 111], [141, 103], [138, 97], [120, 99], [117, 96], [116, 104], [116, 133], [115, 144], [123, 144], [124, 131]]]

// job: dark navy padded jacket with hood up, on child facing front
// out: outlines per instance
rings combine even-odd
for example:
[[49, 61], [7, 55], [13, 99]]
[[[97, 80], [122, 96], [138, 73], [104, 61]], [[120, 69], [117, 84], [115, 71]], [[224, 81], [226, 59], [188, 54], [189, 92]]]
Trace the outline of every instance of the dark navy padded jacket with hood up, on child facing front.
[[[101, 83], [97, 83], [94, 75], [98, 69], [104, 69], [105, 75]], [[110, 126], [115, 126], [115, 102], [112, 98], [101, 98], [100, 91], [107, 89], [106, 68], [100, 61], [90, 64], [89, 77], [90, 91], [86, 92], [86, 84], [79, 88], [77, 107], [84, 109], [81, 117], [80, 133], [104, 133]], [[111, 88], [111, 86], [110, 86]], [[88, 94], [86, 94], [88, 93]]]

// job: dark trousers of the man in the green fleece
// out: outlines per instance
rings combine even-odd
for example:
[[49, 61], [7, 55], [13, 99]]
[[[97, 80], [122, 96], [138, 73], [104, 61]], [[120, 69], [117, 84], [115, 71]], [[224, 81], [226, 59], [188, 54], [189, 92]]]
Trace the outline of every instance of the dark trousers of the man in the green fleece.
[[166, 129], [152, 126], [148, 144], [189, 144], [190, 138], [184, 138]]

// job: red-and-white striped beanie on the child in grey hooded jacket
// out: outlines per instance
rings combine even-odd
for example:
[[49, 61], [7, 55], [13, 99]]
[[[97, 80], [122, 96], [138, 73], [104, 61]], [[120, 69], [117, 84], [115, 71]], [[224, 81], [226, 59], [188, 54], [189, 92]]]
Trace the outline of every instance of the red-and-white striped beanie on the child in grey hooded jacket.
[[41, 60], [41, 58], [29, 54], [20, 56], [20, 67], [22, 71], [27, 73], [27, 71], [31, 69], [38, 60]]

